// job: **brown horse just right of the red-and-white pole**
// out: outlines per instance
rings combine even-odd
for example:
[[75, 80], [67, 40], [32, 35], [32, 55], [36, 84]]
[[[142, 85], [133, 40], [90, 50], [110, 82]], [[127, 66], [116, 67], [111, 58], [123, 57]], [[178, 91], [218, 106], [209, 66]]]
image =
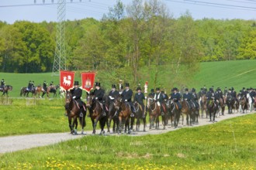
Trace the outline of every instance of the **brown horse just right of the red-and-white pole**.
[[161, 115], [161, 108], [157, 105], [157, 102], [154, 98], [147, 98], [147, 110], [150, 115], [150, 129], [154, 127], [159, 128], [159, 116]]

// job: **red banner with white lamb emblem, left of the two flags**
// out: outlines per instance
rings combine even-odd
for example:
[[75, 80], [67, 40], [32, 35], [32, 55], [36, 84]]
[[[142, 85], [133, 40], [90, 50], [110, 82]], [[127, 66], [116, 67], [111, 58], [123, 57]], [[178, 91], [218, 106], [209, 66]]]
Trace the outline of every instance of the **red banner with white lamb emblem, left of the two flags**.
[[60, 87], [69, 90], [73, 87], [74, 71], [60, 71]]

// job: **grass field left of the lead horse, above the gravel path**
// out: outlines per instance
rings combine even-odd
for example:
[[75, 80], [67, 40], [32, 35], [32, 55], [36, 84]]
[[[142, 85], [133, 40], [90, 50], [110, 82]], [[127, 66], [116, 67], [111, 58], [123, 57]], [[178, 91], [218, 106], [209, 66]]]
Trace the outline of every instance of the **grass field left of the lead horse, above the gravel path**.
[[[0, 137], [69, 131], [64, 102], [64, 99], [9, 99], [12, 105], [0, 105]], [[85, 120], [85, 131], [92, 130], [91, 119]]]

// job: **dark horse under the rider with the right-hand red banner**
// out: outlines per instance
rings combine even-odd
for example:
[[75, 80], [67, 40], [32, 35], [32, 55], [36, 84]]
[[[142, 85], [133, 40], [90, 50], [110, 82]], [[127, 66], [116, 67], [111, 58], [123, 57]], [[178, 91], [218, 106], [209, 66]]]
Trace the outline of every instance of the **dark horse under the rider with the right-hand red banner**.
[[99, 100], [95, 99], [94, 93], [88, 94], [86, 106], [89, 109], [89, 116], [91, 117], [91, 121], [92, 121], [92, 128], [93, 128], [92, 134], [96, 133], [96, 127], [97, 127], [98, 121], [101, 128], [100, 134], [105, 134], [104, 127], [106, 125], [107, 117], [102, 116], [102, 112], [104, 111], [103, 106], [99, 102]]

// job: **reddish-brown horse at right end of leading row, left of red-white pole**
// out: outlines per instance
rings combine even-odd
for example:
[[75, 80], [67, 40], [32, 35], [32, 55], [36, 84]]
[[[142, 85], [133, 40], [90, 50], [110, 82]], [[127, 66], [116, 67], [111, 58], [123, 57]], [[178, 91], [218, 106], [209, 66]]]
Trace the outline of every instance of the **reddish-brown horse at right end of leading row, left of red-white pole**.
[[122, 97], [117, 97], [115, 100], [115, 106], [116, 110], [119, 112], [119, 131], [118, 133], [121, 133], [122, 128], [123, 128], [123, 122], [125, 123], [125, 130], [124, 132], [126, 133], [126, 130], [128, 128], [128, 134], [131, 133], [130, 131], [130, 114], [132, 114], [132, 110], [130, 108], [130, 104], [128, 102], [122, 101]]

